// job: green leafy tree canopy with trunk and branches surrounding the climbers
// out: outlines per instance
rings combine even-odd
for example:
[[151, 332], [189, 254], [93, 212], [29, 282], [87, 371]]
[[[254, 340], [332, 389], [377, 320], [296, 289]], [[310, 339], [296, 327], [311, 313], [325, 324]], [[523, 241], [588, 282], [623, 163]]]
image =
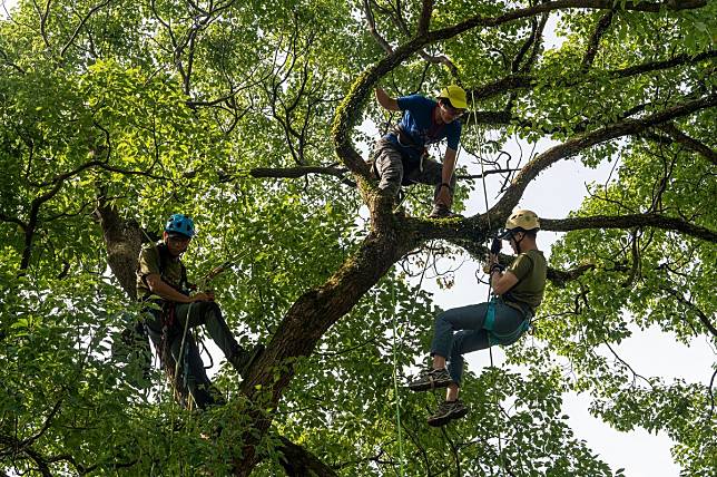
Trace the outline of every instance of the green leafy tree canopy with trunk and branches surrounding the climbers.
[[[650, 327], [717, 344], [717, 2], [562, 3], [20, 1], [0, 21], [0, 474], [269, 476], [285, 438], [338, 475], [396, 474], [401, 447], [405, 475], [621, 475], [573, 436], [568, 391], [619, 430], [667, 432], [685, 475], [714, 471], [713, 383], [641, 377], [615, 345]], [[365, 91], [446, 82], [469, 90], [459, 174], [487, 167], [492, 218], [416, 218], [428, 187], [381, 212], [344, 133], [367, 158], [396, 117]], [[517, 138], [557, 146], [514, 158]], [[550, 265], [569, 278], [510, 366], [466, 372], [469, 417], [428, 428], [434, 400], [393, 382], [430, 345], [425, 269], [480, 256], [571, 157], [618, 165], [544, 222], [568, 232]], [[455, 208], [484, 184], [462, 178]], [[223, 364], [228, 403], [204, 413], [111, 349], [139, 305], [110, 212], [146, 241], [179, 211], [199, 230], [190, 279], [229, 262], [212, 286], [230, 328], [281, 357], [254, 380]]]

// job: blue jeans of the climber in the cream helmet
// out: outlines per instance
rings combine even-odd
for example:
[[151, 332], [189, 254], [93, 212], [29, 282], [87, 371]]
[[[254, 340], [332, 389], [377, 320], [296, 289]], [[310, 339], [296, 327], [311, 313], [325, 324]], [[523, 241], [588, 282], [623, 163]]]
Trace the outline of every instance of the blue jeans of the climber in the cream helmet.
[[[438, 354], [448, 360], [449, 373], [456, 384], [461, 383], [463, 376], [463, 354], [484, 350], [491, 345], [489, 331], [484, 328], [487, 312], [488, 303], [469, 304], [448, 310], [435, 319], [431, 356]], [[498, 300], [493, 331], [499, 334], [509, 334], [515, 331], [526, 318], [519, 310]], [[458, 332], [454, 334], [454, 331]], [[520, 334], [515, 337], [515, 340], [518, 338]]]

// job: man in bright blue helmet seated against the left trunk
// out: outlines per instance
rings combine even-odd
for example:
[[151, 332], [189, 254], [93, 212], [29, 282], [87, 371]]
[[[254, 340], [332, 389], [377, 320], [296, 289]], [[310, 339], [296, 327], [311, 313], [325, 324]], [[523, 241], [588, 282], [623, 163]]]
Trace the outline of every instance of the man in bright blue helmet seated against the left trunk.
[[222, 398], [210, 392], [212, 383], [190, 329], [204, 324], [239, 374], [245, 373], [264, 347], [258, 344], [247, 351], [236, 342], [219, 305], [214, 301], [214, 293], [200, 291], [189, 294], [187, 271], [180, 257], [194, 235], [191, 218], [183, 214], [169, 217], [163, 240], [146, 245], [139, 254], [137, 296], [146, 303], [158, 305], [145, 308], [146, 330], [163, 364], [174, 367], [179, 363], [175, 386], [183, 391], [180, 395], [190, 395], [194, 403], [204, 409], [220, 403]]

